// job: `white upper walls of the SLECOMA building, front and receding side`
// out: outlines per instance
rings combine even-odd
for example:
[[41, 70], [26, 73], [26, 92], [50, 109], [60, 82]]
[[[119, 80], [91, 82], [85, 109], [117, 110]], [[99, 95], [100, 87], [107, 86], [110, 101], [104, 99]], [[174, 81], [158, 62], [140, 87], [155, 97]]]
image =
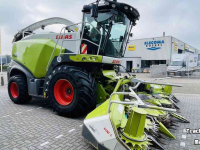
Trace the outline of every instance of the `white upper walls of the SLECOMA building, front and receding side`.
[[[159, 41], [164, 43], [158, 44]], [[134, 46], [134, 50], [129, 50], [129, 46]], [[153, 50], [152, 48], [155, 49]], [[130, 40], [125, 57], [141, 57], [141, 60], [166, 60], [168, 63], [171, 61], [172, 55], [178, 53], [200, 54], [200, 50], [172, 36], [163, 36]]]

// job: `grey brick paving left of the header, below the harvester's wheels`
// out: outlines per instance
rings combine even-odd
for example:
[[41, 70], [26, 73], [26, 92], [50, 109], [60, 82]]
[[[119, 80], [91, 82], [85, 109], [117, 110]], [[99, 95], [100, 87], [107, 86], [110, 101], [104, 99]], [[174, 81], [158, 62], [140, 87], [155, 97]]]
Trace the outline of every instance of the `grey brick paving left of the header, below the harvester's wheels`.
[[47, 100], [15, 105], [0, 87], [0, 150], [93, 149], [81, 136], [82, 120], [58, 116]]

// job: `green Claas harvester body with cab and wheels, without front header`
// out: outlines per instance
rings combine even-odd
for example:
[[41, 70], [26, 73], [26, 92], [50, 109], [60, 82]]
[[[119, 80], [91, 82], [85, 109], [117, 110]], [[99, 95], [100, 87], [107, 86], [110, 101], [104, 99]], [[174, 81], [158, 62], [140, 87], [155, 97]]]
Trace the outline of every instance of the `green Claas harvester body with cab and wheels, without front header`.
[[[53, 109], [71, 117], [90, 111], [109, 97], [112, 81], [103, 70], [120, 64], [138, 11], [116, 1], [83, 7], [83, 20], [50, 18], [19, 31], [13, 40], [8, 92], [14, 103], [49, 98]], [[34, 33], [65, 24], [60, 33]], [[109, 74], [109, 72], [107, 72]]]

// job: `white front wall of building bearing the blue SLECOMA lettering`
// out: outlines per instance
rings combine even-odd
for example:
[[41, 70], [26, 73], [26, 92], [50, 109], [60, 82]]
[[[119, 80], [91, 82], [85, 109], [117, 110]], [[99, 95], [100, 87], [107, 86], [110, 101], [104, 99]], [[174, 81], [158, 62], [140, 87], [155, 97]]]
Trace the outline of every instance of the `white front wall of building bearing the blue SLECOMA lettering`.
[[[141, 60], [169, 60], [171, 51], [171, 37], [157, 37], [130, 40], [125, 57], [141, 57]], [[135, 50], [129, 50], [134, 45]]]

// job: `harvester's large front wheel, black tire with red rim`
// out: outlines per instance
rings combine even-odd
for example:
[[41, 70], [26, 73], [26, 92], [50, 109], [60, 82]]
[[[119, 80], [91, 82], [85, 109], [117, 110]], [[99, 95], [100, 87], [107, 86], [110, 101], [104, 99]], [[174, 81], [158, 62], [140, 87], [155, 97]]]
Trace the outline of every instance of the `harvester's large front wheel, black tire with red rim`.
[[91, 73], [79, 67], [62, 65], [56, 67], [48, 78], [49, 98], [58, 114], [79, 117], [94, 107], [96, 86]]

